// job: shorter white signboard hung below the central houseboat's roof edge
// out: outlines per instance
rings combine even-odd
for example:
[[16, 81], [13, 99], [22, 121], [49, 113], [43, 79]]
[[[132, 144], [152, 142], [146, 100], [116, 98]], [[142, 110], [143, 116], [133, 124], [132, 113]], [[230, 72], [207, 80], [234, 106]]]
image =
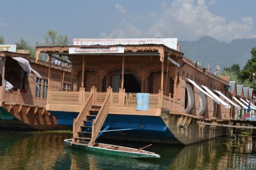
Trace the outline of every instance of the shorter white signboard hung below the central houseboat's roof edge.
[[70, 47], [69, 54], [81, 53], [124, 53], [124, 47]]

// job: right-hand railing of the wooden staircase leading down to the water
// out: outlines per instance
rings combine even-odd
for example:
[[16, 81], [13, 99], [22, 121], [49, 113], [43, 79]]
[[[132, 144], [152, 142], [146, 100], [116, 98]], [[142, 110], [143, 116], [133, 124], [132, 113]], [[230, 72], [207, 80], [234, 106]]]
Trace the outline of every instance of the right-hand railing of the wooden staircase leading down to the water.
[[92, 136], [91, 136], [89, 146], [94, 145], [94, 142], [99, 134], [99, 131], [102, 128], [102, 125], [108, 116], [109, 108], [111, 105], [111, 96], [112, 96], [112, 88], [108, 88], [108, 92], [107, 92], [107, 96], [105, 97], [105, 101], [103, 102], [102, 107], [100, 108], [99, 113], [93, 122]]

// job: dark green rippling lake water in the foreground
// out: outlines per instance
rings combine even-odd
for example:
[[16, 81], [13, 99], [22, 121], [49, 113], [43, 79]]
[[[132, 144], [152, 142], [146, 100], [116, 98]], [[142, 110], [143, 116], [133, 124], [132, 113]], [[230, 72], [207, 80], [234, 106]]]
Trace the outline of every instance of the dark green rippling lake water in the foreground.
[[[239, 136], [239, 140], [234, 141], [213, 139], [185, 147], [154, 144], [147, 150], [161, 156], [155, 160], [122, 159], [73, 150], [62, 142], [71, 136], [69, 131], [0, 131], [0, 169], [256, 169], [256, 143], [252, 137], [247, 136]], [[133, 147], [147, 145], [133, 142], [115, 144]]]

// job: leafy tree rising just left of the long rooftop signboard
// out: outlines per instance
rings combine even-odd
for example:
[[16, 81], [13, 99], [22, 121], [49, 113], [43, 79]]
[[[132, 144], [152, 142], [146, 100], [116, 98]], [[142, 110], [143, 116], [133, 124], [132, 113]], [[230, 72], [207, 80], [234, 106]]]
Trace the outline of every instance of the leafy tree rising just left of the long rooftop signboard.
[[56, 46], [56, 45], [68, 45], [69, 40], [67, 35], [58, 34], [57, 31], [48, 30], [44, 35], [45, 45], [47, 46]]

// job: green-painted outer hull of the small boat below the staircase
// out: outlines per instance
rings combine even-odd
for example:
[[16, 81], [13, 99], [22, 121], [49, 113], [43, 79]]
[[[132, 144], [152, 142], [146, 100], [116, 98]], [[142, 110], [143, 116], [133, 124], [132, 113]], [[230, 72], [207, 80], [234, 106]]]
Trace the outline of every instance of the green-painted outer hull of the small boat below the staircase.
[[[70, 139], [64, 140], [64, 144], [69, 147], [77, 148], [79, 150], [84, 150], [86, 152], [97, 153], [101, 155], [118, 156], [122, 158], [160, 158], [160, 155], [157, 155], [157, 154], [146, 154], [146, 153], [139, 153], [139, 152], [123, 151], [123, 150], [113, 150], [113, 149], [107, 149], [102, 147], [86, 146], [81, 144], [71, 144]], [[108, 145], [108, 144], [105, 144], [105, 145]], [[109, 146], [116, 146], [116, 145], [109, 145]], [[133, 149], [128, 147], [124, 147], [124, 148]]]

